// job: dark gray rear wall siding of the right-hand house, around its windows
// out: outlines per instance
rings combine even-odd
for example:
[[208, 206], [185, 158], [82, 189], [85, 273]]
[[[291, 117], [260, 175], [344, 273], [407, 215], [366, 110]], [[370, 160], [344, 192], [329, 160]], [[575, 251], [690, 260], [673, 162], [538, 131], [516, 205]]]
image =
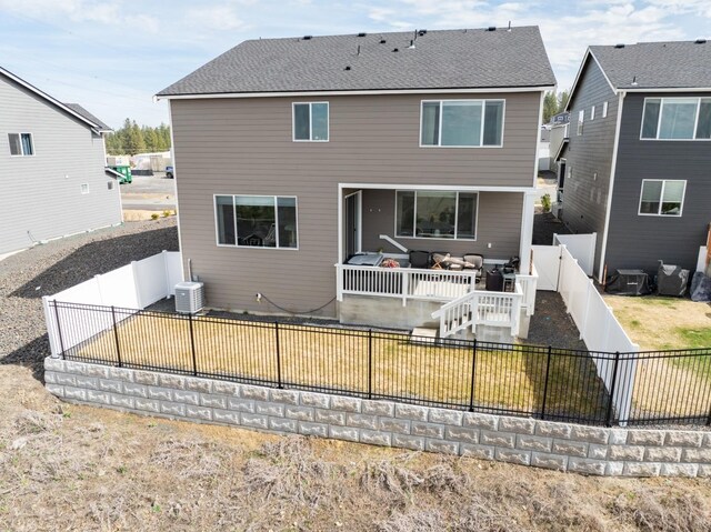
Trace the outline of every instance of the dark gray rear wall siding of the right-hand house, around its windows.
[[[711, 141], [640, 140], [644, 98], [669, 96], [628, 93], [624, 99], [605, 253], [608, 271], [641, 268], [655, 272], [658, 260], [693, 271], [699, 247], [705, 243], [711, 222]], [[683, 96], [700, 94], [673, 94]], [[640, 217], [643, 179], [687, 180], [682, 215]]]

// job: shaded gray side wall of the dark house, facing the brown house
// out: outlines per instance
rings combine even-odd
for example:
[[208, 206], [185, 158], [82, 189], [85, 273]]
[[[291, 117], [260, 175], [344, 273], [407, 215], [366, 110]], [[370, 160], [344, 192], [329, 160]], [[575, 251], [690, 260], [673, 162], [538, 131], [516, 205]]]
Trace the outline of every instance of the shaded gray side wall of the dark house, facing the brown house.
[[[608, 116], [602, 107], [608, 102]], [[595, 118], [590, 110], [595, 107]], [[563, 190], [563, 221], [575, 233], [598, 233], [594, 273], [599, 275], [603, 230], [610, 189], [610, 171], [618, 114], [614, 94], [598, 63], [588, 63], [578, 81], [570, 112], [569, 144], [565, 151], [567, 171]], [[583, 133], [578, 135], [578, 114], [584, 111]], [[597, 177], [595, 177], [597, 173]]]

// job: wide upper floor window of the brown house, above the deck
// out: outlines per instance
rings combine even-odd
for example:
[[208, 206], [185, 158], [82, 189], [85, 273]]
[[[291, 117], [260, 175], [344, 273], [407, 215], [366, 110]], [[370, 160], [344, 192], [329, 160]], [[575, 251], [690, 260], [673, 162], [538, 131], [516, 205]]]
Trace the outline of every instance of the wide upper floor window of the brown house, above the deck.
[[503, 100], [422, 101], [420, 145], [498, 147], [503, 143]]

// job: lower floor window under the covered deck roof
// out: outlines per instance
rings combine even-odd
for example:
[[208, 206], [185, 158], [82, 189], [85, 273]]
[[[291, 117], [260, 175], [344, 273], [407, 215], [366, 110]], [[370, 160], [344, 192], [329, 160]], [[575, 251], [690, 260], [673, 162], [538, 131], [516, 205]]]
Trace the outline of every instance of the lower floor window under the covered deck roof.
[[477, 192], [399, 190], [395, 235], [477, 239]]

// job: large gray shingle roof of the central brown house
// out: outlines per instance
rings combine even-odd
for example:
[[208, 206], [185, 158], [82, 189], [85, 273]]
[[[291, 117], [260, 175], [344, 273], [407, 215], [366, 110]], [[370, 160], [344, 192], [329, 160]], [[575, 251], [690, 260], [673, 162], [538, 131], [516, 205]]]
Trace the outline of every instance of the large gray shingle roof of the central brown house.
[[538, 27], [427, 31], [410, 49], [413, 38], [408, 31], [249, 40], [158, 96], [555, 83]]

